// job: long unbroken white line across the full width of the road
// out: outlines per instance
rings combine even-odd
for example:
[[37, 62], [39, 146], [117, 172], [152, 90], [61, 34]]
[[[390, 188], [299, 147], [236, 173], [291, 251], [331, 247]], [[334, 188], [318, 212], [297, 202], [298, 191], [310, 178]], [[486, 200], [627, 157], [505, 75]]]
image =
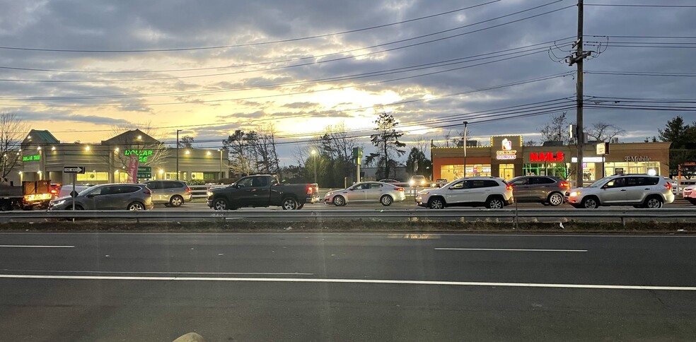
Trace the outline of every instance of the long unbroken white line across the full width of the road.
[[0, 274], [11, 279], [59, 279], [88, 281], [247, 281], [257, 283], [361, 283], [398, 285], [451, 285], [451, 286], [499, 286], [507, 288], [575, 288], [599, 290], [665, 290], [696, 291], [696, 286], [642, 286], [553, 283], [492, 283], [478, 281], [394, 281], [385, 279], [332, 279], [332, 278], [227, 278], [227, 277], [141, 277], [141, 276], [44, 276], [34, 274]]

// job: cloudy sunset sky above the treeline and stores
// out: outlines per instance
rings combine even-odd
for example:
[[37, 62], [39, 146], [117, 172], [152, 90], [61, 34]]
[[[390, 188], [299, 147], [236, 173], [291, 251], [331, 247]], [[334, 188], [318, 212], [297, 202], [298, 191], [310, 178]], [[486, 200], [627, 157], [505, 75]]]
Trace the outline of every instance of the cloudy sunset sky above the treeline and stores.
[[[284, 163], [327, 125], [369, 135], [378, 112], [407, 143], [464, 120], [483, 140], [539, 141], [550, 114], [576, 114], [576, 4], [0, 0], [0, 111], [66, 142], [149, 125], [217, 148], [272, 124]], [[695, 121], [695, 17], [692, 0], [586, 1], [586, 125], [642, 141], [676, 115]]]

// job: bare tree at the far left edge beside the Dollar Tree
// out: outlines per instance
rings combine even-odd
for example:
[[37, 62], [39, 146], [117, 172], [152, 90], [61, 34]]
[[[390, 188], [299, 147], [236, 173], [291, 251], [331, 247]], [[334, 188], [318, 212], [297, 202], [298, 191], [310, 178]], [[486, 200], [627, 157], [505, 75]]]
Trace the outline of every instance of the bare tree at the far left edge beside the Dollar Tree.
[[21, 143], [29, 132], [29, 125], [15, 114], [0, 114], [0, 158], [2, 177], [5, 178], [20, 162]]

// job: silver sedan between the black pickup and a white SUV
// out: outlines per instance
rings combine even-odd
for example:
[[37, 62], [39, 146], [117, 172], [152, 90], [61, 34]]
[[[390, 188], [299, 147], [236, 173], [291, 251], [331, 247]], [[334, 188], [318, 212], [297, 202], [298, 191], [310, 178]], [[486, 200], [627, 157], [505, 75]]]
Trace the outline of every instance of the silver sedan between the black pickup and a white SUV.
[[324, 196], [326, 204], [345, 206], [349, 202], [354, 203], [381, 203], [388, 206], [394, 202], [405, 201], [404, 188], [384, 182], [361, 182], [353, 184], [347, 189], [329, 191]]

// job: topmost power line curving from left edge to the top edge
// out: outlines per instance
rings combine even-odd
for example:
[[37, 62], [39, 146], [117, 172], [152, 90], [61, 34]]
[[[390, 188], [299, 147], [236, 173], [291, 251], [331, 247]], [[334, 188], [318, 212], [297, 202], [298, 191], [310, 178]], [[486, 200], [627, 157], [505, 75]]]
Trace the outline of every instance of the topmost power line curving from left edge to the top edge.
[[[483, 3], [483, 4], [472, 5], [472, 6], [468, 6], [468, 7], [464, 7], [464, 8], [458, 8], [458, 9], [451, 10], [451, 11], [432, 14], [430, 16], [422, 16], [419, 18], [402, 20], [402, 21], [398, 21], [395, 23], [370, 26], [368, 28], [359, 28], [359, 29], [354, 29], [354, 30], [341, 31], [341, 32], [337, 32], [337, 33], [325, 33], [323, 35], [313, 35], [313, 36], [308, 36], [308, 37], [290, 38], [290, 39], [286, 39], [286, 40], [273, 40], [273, 41], [269, 41], [269, 42], [255, 42], [255, 43], [246, 43], [246, 44], [238, 44], [238, 45], [219, 45], [219, 46], [211, 46], [211, 47], [182, 47], [182, 48], [173, 48], [173, 49], [130, 49], [130, 50], [39, 49], [39, 48], [30, 48], [30, 47], [0, 47], [0, 49], [13, 49], [13, 50], [23, 50], [23, 51], [36, 51], [36, 52], [89, 52], [89, 53], [92, 53], [92, 52], [95, 52], [95, 53], [124, 53], [124, 52], [127, 52], [127, 53], [132, 53], [132, 52], [195, 51], [195, 50], [205, 50], [205, 49], [228, 49], [228, 48], [232, 48], [232, 47], [253, 47], [253, 46], [259, 46], [259, 45], [277, 44], [277, 43], [282, 43], [282, 42], [297, 42], [300, 40], [311, 40], [311, 39], [321, 38], [321, 37], [330, 37], [330, 36], [334, 36], [334, 35], [345, 35], [348, 33], [356, 33], [356, 32], [361, 32], [361, 31], [366, 31], [366, 30], [374, 30], [376, 28], [385, 28], [388, 26], [399, 25], [399, 24], [403, 24], [403, 23], [411, 23], [411, 22], [414, 22], [417, 20], [429, 19], [429, 18], [434, 18], [437, 16], [444, 16], [446, 14], [465, 11], [465, 10], [468, 10], [471, 8], [485, 6], [485, 5], [493, 4], [493, 3], [499, 2], [499, 1], [501, 1], [501, 0], [488, 1], [488, 2]], [[79, 71], [75, 71], [75, 72], [79, 72]], [[137, 72], [137, 71], [134, 71], [134, 72]]]

